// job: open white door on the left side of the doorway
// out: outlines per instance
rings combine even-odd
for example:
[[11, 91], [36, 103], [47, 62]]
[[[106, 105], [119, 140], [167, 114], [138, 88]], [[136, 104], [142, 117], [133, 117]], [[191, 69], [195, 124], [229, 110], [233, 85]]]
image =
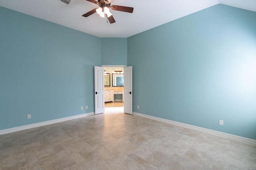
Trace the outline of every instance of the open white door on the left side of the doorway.
[[104, 67], [94, 66], [94, 84], [95, 114], [104, 113]]

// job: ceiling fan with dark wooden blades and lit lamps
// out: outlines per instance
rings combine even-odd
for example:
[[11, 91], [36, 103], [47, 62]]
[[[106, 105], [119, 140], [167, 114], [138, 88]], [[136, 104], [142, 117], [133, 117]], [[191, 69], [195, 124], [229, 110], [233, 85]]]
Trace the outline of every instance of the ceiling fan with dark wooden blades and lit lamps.
[[105, 15], [108, 18], [108, 21], [110, 23], [114, 23], [116, 22], [114, 20], [114, 17], [112, 16], [112, 14], [110, 13], [110, 10], [116, 10], [116, 11], [122, 11], [122, 12], [133, 12], [133, 8], [132, 7], [127, 7], [127, 6], [118, 6], [118, 5], [111, 5], [110, 2], [111, 0], [87, 0], [89, 2], [92, 2], [94, 4], [97, 4], [98, 6], [100, 6], [100, 8], [95, 8], [89, 12], [87, 12], [86, 14], [82, 15], [83, 17], [88, 17], [92, 14], [94, 14], [95, 12], [97, 12], [100, 17], [105, 18]]

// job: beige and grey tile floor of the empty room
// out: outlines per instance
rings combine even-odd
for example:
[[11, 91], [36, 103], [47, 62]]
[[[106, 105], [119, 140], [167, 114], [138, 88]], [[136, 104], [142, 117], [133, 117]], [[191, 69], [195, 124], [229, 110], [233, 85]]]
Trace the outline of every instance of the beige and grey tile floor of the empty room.
[[0, 135], [0, 170], [256, 170], [256, 146], [105, 110]]

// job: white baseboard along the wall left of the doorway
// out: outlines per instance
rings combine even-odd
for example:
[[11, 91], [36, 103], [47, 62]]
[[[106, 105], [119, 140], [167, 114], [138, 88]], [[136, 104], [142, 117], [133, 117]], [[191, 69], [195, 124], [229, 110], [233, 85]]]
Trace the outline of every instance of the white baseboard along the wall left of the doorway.
[[30, 124], [30, 125], [13, 127], [13, 128], [10, 128], [10, 129], [4, 129], [4, 130], [0, 130], [0, 135], [6, 134], [6, 133], [22, 131], [22, 130], [26, 130], [26, 129], [31, 129], [31, 128], [34, 128], [34, 127], [50, 125], [50, 124], [53, 124], [53, 123], [59, 123], [59, 122], [62, 122], [62, 121], [78, 119], [78, 118], [87, 117], [87, 116], [90, 116], [90, 115], [94, 115], [94, 112], [84, 113], [84, 114], [81, 114], [81, 115], [74, 115], [74, 116], [70, 116], [70, 117], [64, 117], [64, 118], [54, 119], [54, 120], [49, 120], [49, 121], [43, 121], [43, 122], [39, 122], [39, 123], [33, 123], [33, 124]]

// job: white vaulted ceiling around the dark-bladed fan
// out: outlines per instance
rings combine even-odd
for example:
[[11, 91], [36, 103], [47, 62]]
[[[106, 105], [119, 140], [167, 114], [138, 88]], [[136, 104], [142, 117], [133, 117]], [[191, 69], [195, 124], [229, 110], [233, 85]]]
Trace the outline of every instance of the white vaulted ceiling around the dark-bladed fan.
[[0, 0], [0, 6], [51, 21], [97, 37], [130, 37], [158, 25], [203, 10], [226, 4], [256, 12], [256, 0], [112, 0], [111, 4], [133, 7], [133, 13], [110, 10], [115, 23], [107, 23], [97, 13], [83, 14], [98, 5], [86, 0], [71, 0], [69, 5], [58, 0]]

